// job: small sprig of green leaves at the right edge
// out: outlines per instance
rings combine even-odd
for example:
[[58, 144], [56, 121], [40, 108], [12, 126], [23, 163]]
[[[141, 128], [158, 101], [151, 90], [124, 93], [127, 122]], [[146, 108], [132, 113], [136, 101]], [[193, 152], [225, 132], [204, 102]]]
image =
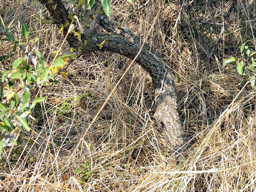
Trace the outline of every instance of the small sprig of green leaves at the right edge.
[[244, 76], [246, 80], [251, 80], [251, 87], [255, 85], [256, 76], [256, 59], [254, 59], [254, 54], [251, 49], [246, 45], [249, 41], [246, 41], [240, 47], [241, 58], [230, 57], [223, 61], [222, 66], [225, 67], [229, 63], [236, 63], [236, 70], [239, 75]]

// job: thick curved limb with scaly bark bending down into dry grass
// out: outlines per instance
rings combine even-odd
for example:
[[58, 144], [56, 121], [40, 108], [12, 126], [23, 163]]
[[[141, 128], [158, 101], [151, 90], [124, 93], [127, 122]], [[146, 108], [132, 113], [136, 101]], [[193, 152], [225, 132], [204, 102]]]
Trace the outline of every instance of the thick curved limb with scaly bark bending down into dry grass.
[[[82, 40], [84, 38], [82, 36]], [[102, 47], [99, 46], [100, 44]], [[83, 46], [82, 50], [84, 52], [116, 52], [134, 59], [140, 50], [140, 46], [117, 35], [94, 34], [90, 39], [87, 39], [87, 44]], [[142, 50], [135, 61], [152, 77], [156, 97], [154, 117], [161, 130], [165, 133], [164, 136], [167, 143], [178, 151], [186, 148], [183, 145], [187, 143], [188, 139], [180, 124], [175, 84], [170, 71], [163, 62], [159, 61], [154, 55], [149, 54], [146, 50]]]

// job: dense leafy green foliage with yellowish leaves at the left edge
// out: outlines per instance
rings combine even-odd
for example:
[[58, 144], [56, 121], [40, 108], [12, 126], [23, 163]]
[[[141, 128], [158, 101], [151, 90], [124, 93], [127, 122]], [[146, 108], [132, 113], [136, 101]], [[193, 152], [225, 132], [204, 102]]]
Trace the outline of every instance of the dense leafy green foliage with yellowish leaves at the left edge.
[[[0, 72], [0, 155], [4, 147], [17, 145], [16, 139], [21, 130], [30, 131], [29, 119], [36, 120], [30, 115], [31, 111], [36, 103], [45, 99], [37, 96], [38, 89], [51, 85], [56, 76], [56, 69], [63, 67], [65, 60], [73, 56], [68, 54], [55, 57], [49, 66], [36, 48], [28, 51], [28, 42], [31, 40], [28, 39], [28, 27], [25, 23], [22, 23], [21, 27], [21, 40], [25, 43], [9, 31], [9, 28], [4, 28], [0, 23], [0, 42], [8, 41], [12, 45], [11, 52], [0, 55], [3, 64], [3, 71]], [[39, 38], [32, 39], [34, 42], [38, 40]], [[17, 54], [17, 47], [23, 54], [12, 62], [11, 68], [6, 69], [5, 62]]]

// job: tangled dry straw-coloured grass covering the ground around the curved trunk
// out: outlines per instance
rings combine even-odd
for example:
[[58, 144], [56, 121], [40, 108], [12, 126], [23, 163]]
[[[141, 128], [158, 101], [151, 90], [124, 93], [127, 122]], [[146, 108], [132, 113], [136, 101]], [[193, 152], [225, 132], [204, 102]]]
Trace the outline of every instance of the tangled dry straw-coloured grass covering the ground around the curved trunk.
[[[161, 4], [149, 1], [148, 9], [137, 10], [145, 2], [135, 1], [133, 7], [125, 1], [112, 2], [113, 17], [142, 38]], [[63, 37], [56, 26], [40, 23], [40, 17], [47, 15], [44, 7], [30, 4], [27, 0], [21, 6], [16, 1], [0, 1], [0, 14], [4, 25], [10, 25], [18, 37], [18, 22], [30, 24], [30, 36], [40, 37], [39, 49], [47, 57], [59, 49]], [[3, 150], [0, 190], [255, 191], [256, 92], [248, 85], [237, 85], [244, 78], [235, 66], [221, 65], [223, 58], [240, 57], [237, 50], [248, 39], [255, 50], [254, 0], [250, 4], [238, 1], [237, 12], [230, 15], [224, 38], [214, 52], [212, 71], [207, 71], [208, 55], [221, 30], [218, 23], [231, 4], [166, 3], [148, 38], [171, 63], [181, 122], [192, 142], [179, 163], [167, 154], [167, 146], [148, 116], [152, 84], [138, 65], [125, 75], [74, 151], [131, 62], [118, 54], [95, 52], [74, 61], [67, 78], [58, 76], [59, 83], [41, 93], [48, 98], [35, 110], [39, 122], [31, 122], [33, 131], [20, 135], [17, 147]], [[67, 48], [65, 44], [61, 54]], [[2, 44], [0, 52], [8, 49], [9, 44]]]

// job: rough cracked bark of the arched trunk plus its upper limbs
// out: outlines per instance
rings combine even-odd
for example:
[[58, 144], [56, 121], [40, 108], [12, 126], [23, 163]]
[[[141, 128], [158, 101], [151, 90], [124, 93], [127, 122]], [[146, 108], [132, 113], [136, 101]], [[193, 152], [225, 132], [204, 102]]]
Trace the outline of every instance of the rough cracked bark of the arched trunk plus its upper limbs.
[[[60, 0], [40, 0], [45, 4], [56, 24], [60, 27], [67, 23], [71, 23], [68, 19], [68, 12], [61, 4]], [[110, 51], [116, 52], [125, 57], [134, 59], [140, 50], [139, 37], [135, 36], [129, 29], [120, 27], [116, 23], [110, 22], [106, 16], [99, 17], [99, 23], [107, 31], [106, 33], [93, 33], [89, 37], [81, 34], [79, 41], [72, 33], [68, 35], [67, 41], [70, 47], [82, 50], [81, 53], [89, 53], [94, 51]], [[115, 26], [115, 27], [113, 27]], [[64, 27], [64, 35], [67, 34], [69, 26]], [[129, 32], [129, 33], [128, 33]], [[115, 34], [113, 34], [115, 33]], [[128, 36], [128, 38], [127, 38]], [[132, 38], [132, 39], [131, 39]], [[156, 51], [148, 52], [149, 46], [145, 45], [140, 55], [135, 60], [141, 65], [152, 77], [155, 88], [155, 114], [154, 118], [159, 124], [159, 128], [164, 133], [166, 142], [171, 148], [180, 152], [187, 149], [188, 141], [186, 134], [180, 124], [179, 114], [177, 111], [175, 84], [173, 82], [170, 71], [165, 67], [163, 61], [159, 60], [161, 55]]]

